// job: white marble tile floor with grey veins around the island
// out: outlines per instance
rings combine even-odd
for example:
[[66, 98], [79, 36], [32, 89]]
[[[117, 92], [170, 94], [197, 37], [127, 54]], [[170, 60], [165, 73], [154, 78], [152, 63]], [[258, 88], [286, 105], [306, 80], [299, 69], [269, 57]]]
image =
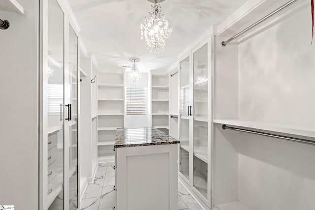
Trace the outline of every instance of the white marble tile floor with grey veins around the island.
[[[94, 183], [88, 184], [83, 195], [81, 210], [113, 210], [116, 199], [114, 184], [114, 163], [99, 163]], [[178, 210], [203, 210], [180, 182]]]

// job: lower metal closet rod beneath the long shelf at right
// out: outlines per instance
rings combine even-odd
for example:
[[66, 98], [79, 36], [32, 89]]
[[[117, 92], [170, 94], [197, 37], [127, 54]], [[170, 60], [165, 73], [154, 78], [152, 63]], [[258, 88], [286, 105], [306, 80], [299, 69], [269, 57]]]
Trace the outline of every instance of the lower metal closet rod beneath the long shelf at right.
[[300, 142], [300, 143], [315, 145], [315, 141], [312, 141], [312, 140], [299, 139], [299, 138], [295, 138], [295, 137], [277, 135], [277, 134], [272, 134], [272, 133], [247, 130], [247, 129], [237, 128], [237, 127], [229, 127], [229, 126], [226, 126], [225, 124], [222, 125], [222, 129], [223, 130], [225, 130], [225, 129], [236, 130], [236, 131], [241, 131], [241, 132], [245, 132], [245, 133], [252, 133], [252, 134], [257, 134], [257, 135], [261, 135], [261, 136], [268, 136], [268, 137], [274, 137], [274, 138], [278, 138], [278, 139], [284, 139], [284, 140], [289, 140], [289, 141], [294, 141], [294, 142]]

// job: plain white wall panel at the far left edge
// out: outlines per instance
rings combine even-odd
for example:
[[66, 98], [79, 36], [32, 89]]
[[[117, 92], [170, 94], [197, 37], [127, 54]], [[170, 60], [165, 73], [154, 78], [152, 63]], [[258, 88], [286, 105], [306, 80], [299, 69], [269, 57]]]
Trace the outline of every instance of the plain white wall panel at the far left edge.
[[0, 204], [38, 209], [38, 0], [26, 17], [0, 11]]

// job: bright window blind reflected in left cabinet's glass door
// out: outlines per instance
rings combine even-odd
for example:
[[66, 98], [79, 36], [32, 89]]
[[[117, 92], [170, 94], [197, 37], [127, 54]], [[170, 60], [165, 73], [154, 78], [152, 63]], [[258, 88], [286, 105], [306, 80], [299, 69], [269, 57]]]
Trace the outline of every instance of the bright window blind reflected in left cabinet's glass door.
[[48, 84], [48, 113], [60, 114], [60, 104], [63, 104], [63, 85]]

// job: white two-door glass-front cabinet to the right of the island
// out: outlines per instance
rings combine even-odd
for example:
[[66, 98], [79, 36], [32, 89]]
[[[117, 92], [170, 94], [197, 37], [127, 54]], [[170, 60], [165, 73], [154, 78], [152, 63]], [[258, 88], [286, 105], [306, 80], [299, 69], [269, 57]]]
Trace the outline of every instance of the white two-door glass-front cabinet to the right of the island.
[[179, 174], [209, 208], [211, 208], [211, 48], [212, 41], [209, 37], [189, 51], [179, 64]]

